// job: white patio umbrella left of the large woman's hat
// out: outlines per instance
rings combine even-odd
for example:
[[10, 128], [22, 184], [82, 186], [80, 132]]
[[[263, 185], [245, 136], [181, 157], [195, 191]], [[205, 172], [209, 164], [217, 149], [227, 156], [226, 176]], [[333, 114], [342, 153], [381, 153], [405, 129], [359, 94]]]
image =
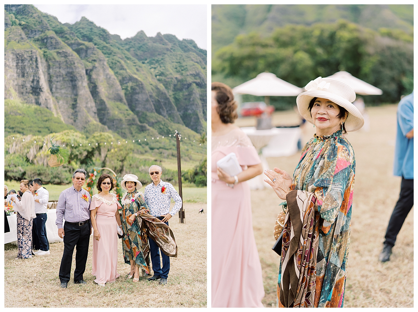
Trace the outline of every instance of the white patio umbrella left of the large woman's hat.
[[238, 94], [264, 96], [266, 104], [269, 104], [270, 96], [298, 96], [305, 90], [278, 78], [273, 73], [260, 73], [254, 79], [236, 86], [232, 91]]

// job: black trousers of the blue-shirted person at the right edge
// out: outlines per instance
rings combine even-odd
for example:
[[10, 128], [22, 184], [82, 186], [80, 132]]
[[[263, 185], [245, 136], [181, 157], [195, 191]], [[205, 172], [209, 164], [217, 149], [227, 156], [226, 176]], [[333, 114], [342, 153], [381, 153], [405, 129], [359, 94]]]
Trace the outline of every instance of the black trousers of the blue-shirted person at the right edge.
[[398, 235], [400, 228], [408, 216], [414, 204], [414, 179], [404, 179], [400, 184], [400, 194], [398, 202], [393, 209], [392, 216], [390, 216], [389, 224], [387, 225], [385, 242], [383, 244], [391, 247], [395, 246], [396, 236]]

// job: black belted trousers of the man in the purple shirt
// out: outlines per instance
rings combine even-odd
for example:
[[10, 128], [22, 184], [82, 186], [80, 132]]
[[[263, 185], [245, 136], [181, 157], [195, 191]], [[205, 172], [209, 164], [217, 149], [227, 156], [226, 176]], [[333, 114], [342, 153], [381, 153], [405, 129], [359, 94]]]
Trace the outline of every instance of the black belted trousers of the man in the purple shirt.
[[82, 226], [64, 223], [64, 254], [59, 267], [59, 279], [61, 283], [68, 283], [71, 276], [71, 262], [73, 260], [74, 247], [76, 247], [76, 269], [74, 270], [74, 282], [83, 280], [86, 269], [87, 254], [89, 252], [90, 222]]

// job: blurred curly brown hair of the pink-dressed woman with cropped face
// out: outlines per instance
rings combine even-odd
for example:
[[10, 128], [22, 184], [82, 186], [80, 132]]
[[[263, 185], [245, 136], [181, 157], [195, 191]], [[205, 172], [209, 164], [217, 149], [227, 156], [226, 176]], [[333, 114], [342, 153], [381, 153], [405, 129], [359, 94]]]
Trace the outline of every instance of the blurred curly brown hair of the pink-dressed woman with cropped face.
[[216, 92], [216, 101], [218, 106], [216, 111], [223, 123], [234, 123], [238, 118], [237, 102], [234, 101], [234, 95], [231, 88], [222, 82], [212, 82], [212, 91]]

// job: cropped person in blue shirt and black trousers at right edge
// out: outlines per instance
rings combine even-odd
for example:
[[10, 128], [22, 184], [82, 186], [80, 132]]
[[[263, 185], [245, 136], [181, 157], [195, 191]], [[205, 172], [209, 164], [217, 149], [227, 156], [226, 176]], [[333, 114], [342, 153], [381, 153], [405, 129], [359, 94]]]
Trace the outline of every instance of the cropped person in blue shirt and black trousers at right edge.
[[383, 250], [379, 255], [381, 262], [389, 261], [396, 236], [414, 204], [414, 92], [402, 98], [396, 113], [398, 129], [396, 131], [395, 160], [393, 174], [402, 176], [398, 202], [390, 216]]

